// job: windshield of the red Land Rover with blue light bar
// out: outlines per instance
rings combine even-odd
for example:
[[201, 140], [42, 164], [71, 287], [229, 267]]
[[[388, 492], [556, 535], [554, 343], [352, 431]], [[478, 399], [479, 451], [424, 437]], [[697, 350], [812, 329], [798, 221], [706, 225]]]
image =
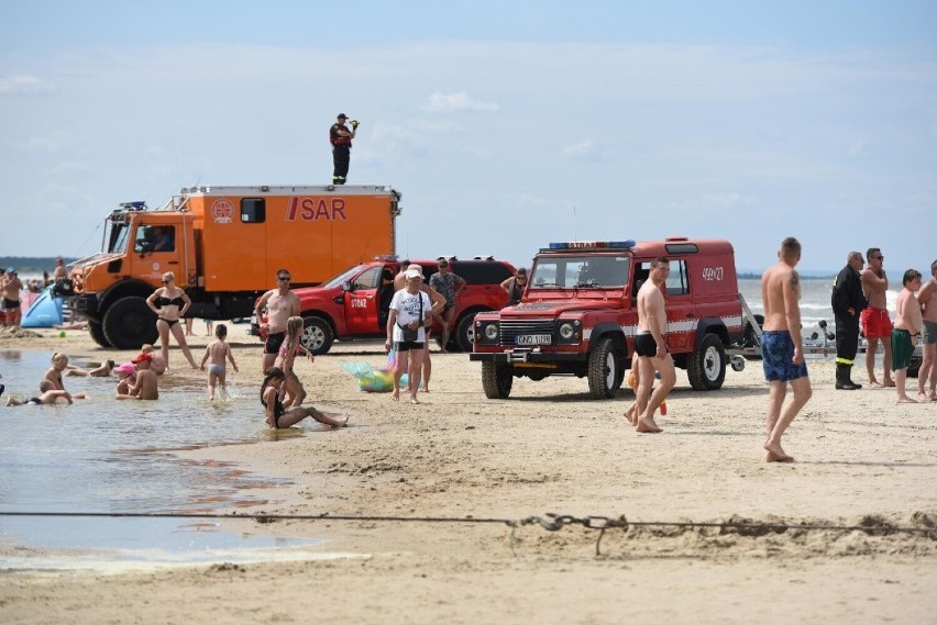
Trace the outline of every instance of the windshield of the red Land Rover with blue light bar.
[[530, 289], [621, 289], [628, 282], [628, 256], [540, 256]]

